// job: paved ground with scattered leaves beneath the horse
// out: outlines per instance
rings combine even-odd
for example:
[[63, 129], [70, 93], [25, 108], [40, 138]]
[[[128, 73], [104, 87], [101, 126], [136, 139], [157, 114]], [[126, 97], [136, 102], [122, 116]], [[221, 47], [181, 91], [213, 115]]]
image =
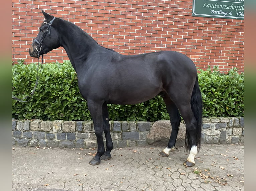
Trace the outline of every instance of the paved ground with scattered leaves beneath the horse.
[[244, 146], [204, 144], [196, 166], [185, 167], [179, 147], [160, 157], [161, 145], [117, 148], [112, 159], [89, 165], [94, 149], [13, 146], [13, 191], [235, 191], [244, 190]]

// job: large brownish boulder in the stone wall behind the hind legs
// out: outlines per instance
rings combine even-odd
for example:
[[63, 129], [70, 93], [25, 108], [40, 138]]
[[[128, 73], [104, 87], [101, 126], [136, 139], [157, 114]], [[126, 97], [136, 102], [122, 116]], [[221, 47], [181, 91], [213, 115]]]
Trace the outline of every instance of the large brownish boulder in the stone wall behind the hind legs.
[[[177, 142], [184, 143], [185, 141], [186, 127], [184, 121], [180, 122], [179, 131], [177, 135]], [[148, 144], [153, 144], [157, 141], [168, 143], [171, 135], [171, 123], [169, 120], [156, 121], [151, 126], [149, 133], [147, 134]], [[177, 145], [176, 142], [176, 145]]]

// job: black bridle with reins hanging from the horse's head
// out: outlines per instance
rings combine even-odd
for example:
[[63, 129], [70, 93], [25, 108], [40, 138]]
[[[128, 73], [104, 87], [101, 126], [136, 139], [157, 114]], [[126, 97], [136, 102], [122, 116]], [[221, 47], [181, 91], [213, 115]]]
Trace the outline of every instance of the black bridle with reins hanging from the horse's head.
[[[29, 100], [32, 98], [33, 94], [35, 93], [35, 89], [36, 89], [36, 86], [37, 86], [37, 84], [38, 84], [38, 69], [39, 69], [40, 51], [42, 50], [42, 51], [43, 51], [43, 54], [46, 54], [46, 53], [44, 52], [43, 48], [42, 48], [42, 43], [43, 43], [43, 40], [44, 40], [45, 36], [47, 35], [47, 32], [48, 32], [49, 37], [51, 37], [51, 25], [52, 25], [54, 19], [55, 19], [55, 17], [53, 17], [52, 20], [51, 20], [49, 23], [43, 22], [42, 25], [44, 25], [44, 24], [47, 24], [47, 25], [48, 25], [47, 29], [44, 31], [43, 36], [42, 36], [42, 38], [40, 39], [39, 42], [38, 42], [38, 41], [36, 40], [36, 38], [35, 38], [35, 39], [33, 40], [33, 43], [32, 43], [33, 49], [34, 49], [34, 51], [37, 53], [37, 57], [38, 57], [38, 66], [37, 66], [37, 72], [36, 72], [35, 87], [34, 87], [33, 91], [32, 91], [31, 94], [30, 94], [31, 97], [29, 98]], [[38, 35], [37, 35], [37, 36], [38, 36]], [[34, 42], [35, 42], [36, 44], [38, 44], [38, 45], [37, 45], [37, 46], [34, 46]], [[38, 50], [38, 48], [40, 48], [40, 50]], [[42, 66], [43, 66], [43, 54], [42, 54], [42, 62], [41, 62], [41, 69], [40, 69], [40, 72], [41, 72]], [[17, 97], [15, 97], [14, 95], [12, 95], [12, 98], [13, 98], [13, 99], [16, 99], [16, 100], [18, 100], [18, 101], [21, 101], [21, 102], [28, 102], [29, 100], [24, 101], [24, 100], [22, 100], [22, 99], [26, 99], [26, 98], [29, 97], [30, 95], [25, 96], [25, 97], [20, 98], [20, 99], [17, 98]]]

